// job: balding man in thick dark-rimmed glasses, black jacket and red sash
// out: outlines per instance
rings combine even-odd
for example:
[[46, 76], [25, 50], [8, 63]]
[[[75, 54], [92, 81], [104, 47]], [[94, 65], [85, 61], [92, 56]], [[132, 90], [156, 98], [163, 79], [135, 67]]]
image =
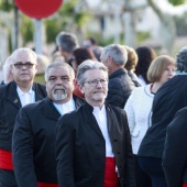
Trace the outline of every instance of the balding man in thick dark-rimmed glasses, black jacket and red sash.
[[21, 107], [45, 98], [45, 86], [34, 84], [36, 54], [19, 48], [11, 55], [13, 81], [0, 87], [0, 187], [16, 187], [11, 144], [15, 117]]

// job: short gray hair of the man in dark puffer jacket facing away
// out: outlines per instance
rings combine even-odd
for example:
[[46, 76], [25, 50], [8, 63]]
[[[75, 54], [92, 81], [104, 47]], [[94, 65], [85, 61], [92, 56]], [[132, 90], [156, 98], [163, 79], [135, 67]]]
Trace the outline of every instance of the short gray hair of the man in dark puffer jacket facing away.
[[127, 50], [119, 44], [108, 45], [102, 50], [101, 58], [106, 61], [111, 56], [116, 65], [125, 65], [128, 61], [128, 52]]

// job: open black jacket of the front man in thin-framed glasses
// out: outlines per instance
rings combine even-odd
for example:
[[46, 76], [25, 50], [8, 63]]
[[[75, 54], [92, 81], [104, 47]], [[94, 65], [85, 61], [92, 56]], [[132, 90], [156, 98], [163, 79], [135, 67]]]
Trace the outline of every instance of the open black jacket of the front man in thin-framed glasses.
[[[103, 187], [106, 141], [87, 102], [57, 123], [59, 187]], [[108, 131], [121, 187], [135, 187], [130, 131], [124, 110], [106, 105]]]

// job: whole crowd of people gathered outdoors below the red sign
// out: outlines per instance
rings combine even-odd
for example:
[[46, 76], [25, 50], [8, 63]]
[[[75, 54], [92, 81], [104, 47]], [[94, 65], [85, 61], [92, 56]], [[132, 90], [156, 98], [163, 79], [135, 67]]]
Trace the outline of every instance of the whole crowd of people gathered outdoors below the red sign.
[[22, 47], [0, 85], [0, 187], [187, 187], [187, 47]]

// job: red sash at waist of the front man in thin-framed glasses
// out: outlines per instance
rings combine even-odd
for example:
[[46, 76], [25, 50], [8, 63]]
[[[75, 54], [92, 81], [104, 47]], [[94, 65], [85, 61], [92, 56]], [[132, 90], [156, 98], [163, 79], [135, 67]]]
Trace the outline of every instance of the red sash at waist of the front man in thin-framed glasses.
[[114, 157], [106, 157], [106, 173], [103, 187], [119, 187]]

